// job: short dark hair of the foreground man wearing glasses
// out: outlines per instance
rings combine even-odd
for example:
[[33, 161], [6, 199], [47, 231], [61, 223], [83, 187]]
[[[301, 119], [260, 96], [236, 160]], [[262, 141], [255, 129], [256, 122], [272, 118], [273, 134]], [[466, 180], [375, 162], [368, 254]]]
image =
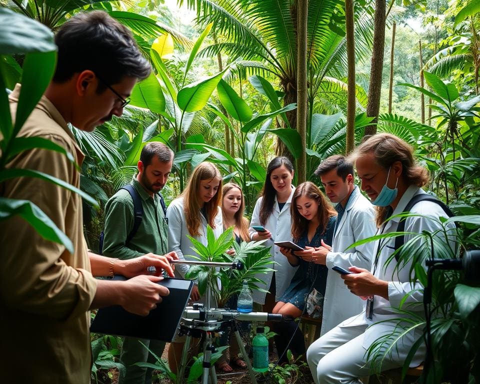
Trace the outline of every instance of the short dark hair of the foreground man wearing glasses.
[[[108, 85], [120, 82], [124, 76], [141, 80], [151, 72], [131, 32], [100, 10], [76, 13], [60, 26], [55, 43], [58, 60], [54, 82], [67, 81], [74, 73], [87, 69]], [[97, 92], [104, 89], [100, 82]]]

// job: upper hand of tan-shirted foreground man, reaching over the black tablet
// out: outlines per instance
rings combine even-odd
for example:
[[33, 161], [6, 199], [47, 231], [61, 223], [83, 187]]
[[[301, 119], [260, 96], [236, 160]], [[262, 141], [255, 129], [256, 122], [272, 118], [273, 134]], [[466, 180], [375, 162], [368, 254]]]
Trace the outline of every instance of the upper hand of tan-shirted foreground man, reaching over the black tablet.
[[173, 277], [173, 265], [170, 264], [171, 260], [178, 260], [175, 252], [170, 252], [163, 256], [147, 253], [143, 256], [128, 260], [118, 260], [115, 262], [113, 268], [115, 273], [125, 277], [133, 277], [140, 274], [152, 274], [148, 270], [148, 267], [154, 266], [155, 272], [153, 272], [153, 275], [160, 276], [161, 271], [165, 270], [170, 277]]

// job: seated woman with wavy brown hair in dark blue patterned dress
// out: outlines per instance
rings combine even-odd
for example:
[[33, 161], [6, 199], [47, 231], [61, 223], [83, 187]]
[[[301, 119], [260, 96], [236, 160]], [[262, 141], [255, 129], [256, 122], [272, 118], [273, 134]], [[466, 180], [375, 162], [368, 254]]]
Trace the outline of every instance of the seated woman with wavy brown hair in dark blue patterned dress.
[[[303, 248], [318, 247], [321, 245], [321, 240], [331, 244], [337, 213], [315, 184], [307, 181], [297, 186], [292, 197], [290, 210], [291, 234], [296, 244]], [[288, 248], [282, 247], [280, 251], [291, 265], [297, 267], [297, 270], [290, 285], [275, 304], [273, 313], [297, 318], [304, 312], [309, 296], [308, 314], [312, 317], [319, 316], [321, 318], [327, 267], [315, 263], [311, 255], [302, 259]], [[295, 355], [304, 354], [303, 335], [297, 329], [296, 323], [287, 321], [282, 323], [280, 327], [282, 329], [276, 329], [277, 327], [275, 327], [275, 332], [281, 334], [281, 336], [275, 338], [278, 354], [280, 355], [285, 351], [293, 334], [290, 349]], [[295, 332], [295, 330], [297, 331]], [[283, 347], [279, 347], [278, 342], [283, 344]], [[286, 361], [286, 353], [283, 354], [281, 360]]]

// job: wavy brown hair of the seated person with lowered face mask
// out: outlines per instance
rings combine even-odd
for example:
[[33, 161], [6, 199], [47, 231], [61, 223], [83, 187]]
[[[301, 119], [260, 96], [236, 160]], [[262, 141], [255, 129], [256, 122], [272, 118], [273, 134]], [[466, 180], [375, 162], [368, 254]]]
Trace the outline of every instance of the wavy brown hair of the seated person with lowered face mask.
[[[405, 185], [422, 187], [428, 182], [428, 171], [418, 165], [413, 158], [413, 148], [401, 138], [386, 132], [376, 133], [358, 145], [348, 159], [354, 162], [361, 156], [373, 153], [378, 165], [388, 169], [394, 162], [400, 161], [401, 177]], [[386, 218], [388, 206], [376, 207], [376, 225], [381, 226]]]

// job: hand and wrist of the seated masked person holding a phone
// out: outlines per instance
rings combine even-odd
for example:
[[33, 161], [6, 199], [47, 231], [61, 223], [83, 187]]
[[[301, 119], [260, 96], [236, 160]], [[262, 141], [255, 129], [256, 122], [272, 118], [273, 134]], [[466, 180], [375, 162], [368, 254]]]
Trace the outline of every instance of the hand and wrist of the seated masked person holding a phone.
[[342, 274], [340, 277], [350, 292], [357, 296], [377, 295], [388, 300], [388, 281], [373, 276], [367, 269], [350, 266], [353, 273]]

